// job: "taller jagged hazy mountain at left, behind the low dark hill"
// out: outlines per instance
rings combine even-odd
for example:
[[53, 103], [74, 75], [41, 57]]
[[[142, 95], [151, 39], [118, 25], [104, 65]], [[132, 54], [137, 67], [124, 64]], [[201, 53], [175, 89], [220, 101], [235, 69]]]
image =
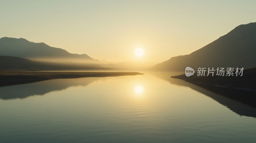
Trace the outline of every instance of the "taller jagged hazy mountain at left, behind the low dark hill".
[[0, 39], [0, 56], [16, 56], [31, 60], [71, 61], [80, 63], [101, 64], [86, 54], [71, 54], [60, 48], [54, 48], [45, 43], [34, 43], [26, 39], [3, 37]]

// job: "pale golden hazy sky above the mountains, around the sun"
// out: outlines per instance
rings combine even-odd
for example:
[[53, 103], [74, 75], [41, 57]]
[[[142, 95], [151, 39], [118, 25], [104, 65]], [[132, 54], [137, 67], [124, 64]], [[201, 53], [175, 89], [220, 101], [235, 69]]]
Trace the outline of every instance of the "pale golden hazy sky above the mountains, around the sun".
[[[255, 0], [1, 0], [0, 37], [95, 59], [155, 64], [256, 22], [255, 7]], [[144, 56], [135, 56], [137, 47]]]

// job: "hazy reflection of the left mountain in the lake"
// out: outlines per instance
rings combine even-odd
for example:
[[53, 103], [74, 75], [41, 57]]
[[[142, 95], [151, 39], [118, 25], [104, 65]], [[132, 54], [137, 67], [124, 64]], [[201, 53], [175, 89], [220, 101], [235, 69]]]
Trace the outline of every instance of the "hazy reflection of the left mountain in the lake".
[[51, 91], [63, 90], [71, 86], [87, 86], [95, 80], [99, 80], [99, 78], [52, 79], [35, 83], [0, 87], [0, 99], [22, 99], [32, 95], [44, 95]]

